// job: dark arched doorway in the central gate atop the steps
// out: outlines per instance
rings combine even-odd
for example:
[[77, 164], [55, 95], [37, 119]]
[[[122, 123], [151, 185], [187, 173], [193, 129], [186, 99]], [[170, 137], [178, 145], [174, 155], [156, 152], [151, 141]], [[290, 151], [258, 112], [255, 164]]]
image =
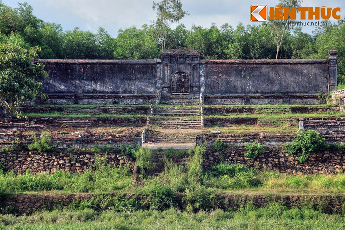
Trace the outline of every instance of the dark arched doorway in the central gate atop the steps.
[[177, 72], [171, 77], [171, 94], [190, 94], [190, 78], [185, 72]]

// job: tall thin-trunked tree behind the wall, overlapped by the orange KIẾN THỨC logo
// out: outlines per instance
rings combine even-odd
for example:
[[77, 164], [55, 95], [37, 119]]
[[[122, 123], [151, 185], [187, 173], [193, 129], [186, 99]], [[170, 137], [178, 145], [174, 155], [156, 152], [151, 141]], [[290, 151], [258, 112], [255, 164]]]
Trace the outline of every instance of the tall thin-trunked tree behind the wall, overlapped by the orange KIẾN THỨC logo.
[[[279, 6], [288, 7], [290, 10], [292, 7], [296, 7], [296, 13], [298, 13], [298, 7], [301, 6], [302, 1], [303, 0], [279, 0]], [[283, 44], [284, 35], [293, 27], [291, 26], [291, 21], [293, 20], [290, 18], [290, 16], [286, 20], [269, 20], [269, 25], [274, 34], [274, 42], [277, 47], [276, 59], [278, 59], [278, 52]]]

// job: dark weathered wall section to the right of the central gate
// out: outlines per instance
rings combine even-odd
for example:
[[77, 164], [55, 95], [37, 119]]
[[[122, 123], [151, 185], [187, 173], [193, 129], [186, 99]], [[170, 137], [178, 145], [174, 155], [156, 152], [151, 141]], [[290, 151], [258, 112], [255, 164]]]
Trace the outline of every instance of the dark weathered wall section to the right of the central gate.
[[328, 61], [205, 60], [207, 94], [317, 94], [328, 91]]

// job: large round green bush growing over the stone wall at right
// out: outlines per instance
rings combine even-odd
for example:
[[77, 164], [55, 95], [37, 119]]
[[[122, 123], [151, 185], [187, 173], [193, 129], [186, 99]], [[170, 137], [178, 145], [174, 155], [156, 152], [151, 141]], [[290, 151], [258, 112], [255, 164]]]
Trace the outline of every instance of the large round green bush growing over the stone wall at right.
[[309, 155], [325, 148], [325, 136], [314, 130], [301, 130], [291, 144], [285, 145], [285, 150], [293, 156], [299, 156], [300, 163], [305, 162]]

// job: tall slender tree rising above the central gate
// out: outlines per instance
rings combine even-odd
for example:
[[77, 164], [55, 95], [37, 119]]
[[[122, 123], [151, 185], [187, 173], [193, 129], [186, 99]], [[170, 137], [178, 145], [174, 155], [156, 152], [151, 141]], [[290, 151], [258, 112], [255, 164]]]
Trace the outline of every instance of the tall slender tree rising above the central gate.
[[163, 0], [159, 3], [153, 2], [152, 8], [157, 10], [156, 31], [164, 52], [170, 26], [172, 23], [178, 22], [186, 15], [189, 15], [189, 13], [182, 10], [180, 0]]

